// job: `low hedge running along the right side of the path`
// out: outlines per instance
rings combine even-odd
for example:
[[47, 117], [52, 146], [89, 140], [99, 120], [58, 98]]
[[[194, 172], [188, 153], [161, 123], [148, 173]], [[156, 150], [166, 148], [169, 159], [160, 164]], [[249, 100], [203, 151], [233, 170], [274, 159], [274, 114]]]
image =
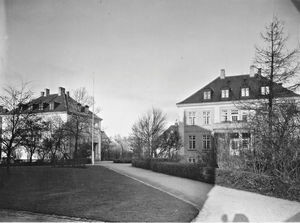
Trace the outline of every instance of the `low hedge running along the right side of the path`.
[[300, 201], [299, 183], [291, 184], [263, 174], [156, 160], [133, 160], [132, 166], [205, 183]]

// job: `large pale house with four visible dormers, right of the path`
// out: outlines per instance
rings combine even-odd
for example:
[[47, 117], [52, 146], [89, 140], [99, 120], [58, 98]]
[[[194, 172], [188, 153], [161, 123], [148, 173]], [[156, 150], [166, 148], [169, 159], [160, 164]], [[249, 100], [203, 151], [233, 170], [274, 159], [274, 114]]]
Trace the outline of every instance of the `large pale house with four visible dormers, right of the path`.
[[[300, 99], [300, 96], [274, 83], [275, 98]], [[216, 140], [228, 140], [228, 153], [238, 155], [239, 149], [251, 146], [251, 132], [247, 128], [249, 110], [241, 106], [249, 101], [266, 99], [268, 80], [250, 67], [250, 74], [220, 76], [199, 91], [177, 103], [180, 111], [180, 133], [183, 141], [181, 155], [184, 162], [197, 162], [211, 153]], [[219, 140], [220, 141], [220, 140]]]

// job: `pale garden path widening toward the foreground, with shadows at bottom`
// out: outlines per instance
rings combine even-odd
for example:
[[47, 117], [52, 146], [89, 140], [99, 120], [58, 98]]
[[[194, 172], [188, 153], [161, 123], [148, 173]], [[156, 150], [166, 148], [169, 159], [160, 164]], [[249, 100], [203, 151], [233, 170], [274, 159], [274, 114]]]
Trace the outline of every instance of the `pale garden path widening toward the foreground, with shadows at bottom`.
[[196, 206], [194, 221], [300, 221], [300, 202], [210, 185], [150, 170], [102, 161], [104, 166]]

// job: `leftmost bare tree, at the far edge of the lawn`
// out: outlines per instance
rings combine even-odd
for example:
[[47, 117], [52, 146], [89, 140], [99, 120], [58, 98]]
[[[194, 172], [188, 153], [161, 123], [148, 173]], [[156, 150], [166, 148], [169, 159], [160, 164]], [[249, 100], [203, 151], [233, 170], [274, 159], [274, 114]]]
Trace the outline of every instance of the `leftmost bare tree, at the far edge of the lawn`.
[[7, 156], [7, 169], [9, 169], [13, 152], [22, 142], [25, 123], [33, 115], [26, 110], [32, 92], [27, 84], [22, 84], [19, 88], [8, 86], [4, 88], [4, 92], [4, 96], [0, 96], [0, 105], [6, 111], [1, 114], [3, 123], [0, 140], [2, 150]]

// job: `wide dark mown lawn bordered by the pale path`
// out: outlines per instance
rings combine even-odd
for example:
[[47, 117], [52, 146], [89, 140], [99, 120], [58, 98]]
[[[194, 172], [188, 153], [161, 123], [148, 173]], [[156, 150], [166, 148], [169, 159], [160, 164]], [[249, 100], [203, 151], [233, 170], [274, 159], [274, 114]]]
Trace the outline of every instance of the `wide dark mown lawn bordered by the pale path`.
[[191, 221], [198, 210], [101, 166], [0, 168], [0, 208], [98, 221]]

